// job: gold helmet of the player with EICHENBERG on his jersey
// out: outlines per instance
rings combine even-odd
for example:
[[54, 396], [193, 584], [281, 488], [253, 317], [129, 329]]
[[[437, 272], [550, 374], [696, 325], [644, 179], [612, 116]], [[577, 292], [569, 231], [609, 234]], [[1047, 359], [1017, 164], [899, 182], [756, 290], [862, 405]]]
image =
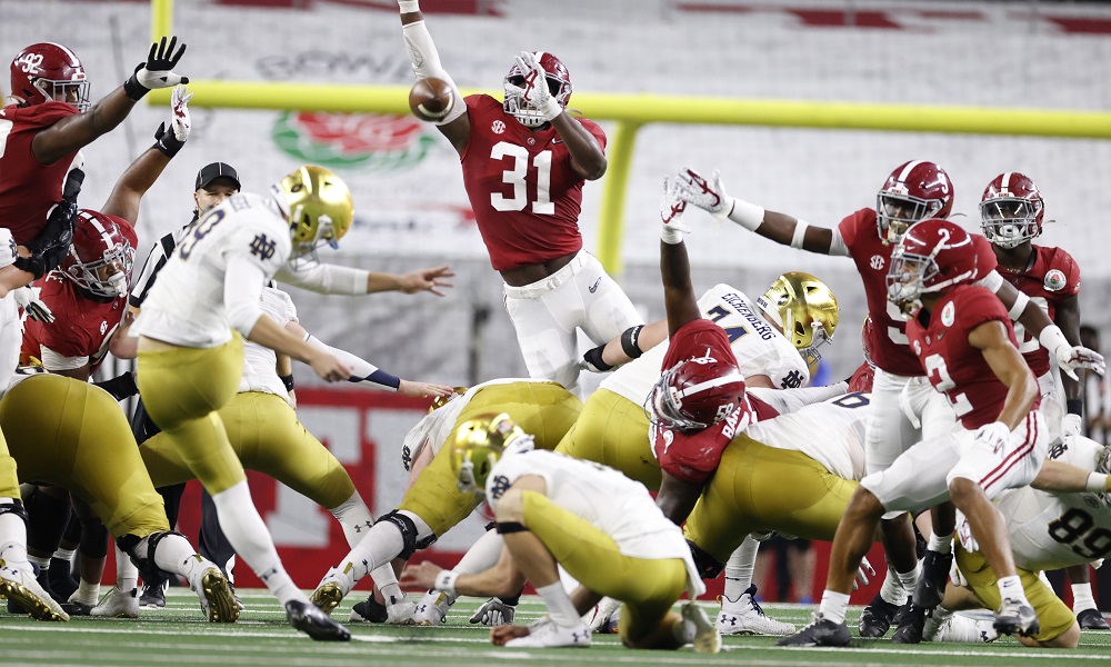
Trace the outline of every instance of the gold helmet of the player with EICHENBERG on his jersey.
[[830, 288], [810, 273], [791, 271], [771, 283], [768, 291], [757, 299], [757, 306], [774, 322], [783, 335], [807, 358], [817, 364], [818, 348], [833, 338], [837, 330], [837, 297]]

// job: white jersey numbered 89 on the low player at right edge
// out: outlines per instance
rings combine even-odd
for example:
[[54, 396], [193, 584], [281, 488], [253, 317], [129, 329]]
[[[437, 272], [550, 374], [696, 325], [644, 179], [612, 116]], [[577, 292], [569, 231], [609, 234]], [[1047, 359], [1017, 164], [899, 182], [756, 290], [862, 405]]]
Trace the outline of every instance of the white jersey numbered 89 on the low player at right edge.
[[[1103, 449], [1083, 437], [1050, 447], [1049, 458], [1087, 471]], [[1060, 569], [1111, 555], [1111, 507], [1100, 494], [1010, 489], [997, 501], [1007, 519], [1014, 564], [1031, 571]]]

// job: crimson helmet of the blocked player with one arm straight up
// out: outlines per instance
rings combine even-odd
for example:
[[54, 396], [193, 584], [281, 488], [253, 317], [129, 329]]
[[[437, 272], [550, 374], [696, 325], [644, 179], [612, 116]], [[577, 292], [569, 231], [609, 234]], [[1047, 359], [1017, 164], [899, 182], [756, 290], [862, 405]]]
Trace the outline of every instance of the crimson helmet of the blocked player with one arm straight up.
[[732, 359], [702, 357], [675, 364], [648, 396], [652, 421], [698, 431], [725, 419], [744, 401], [744, 376]]

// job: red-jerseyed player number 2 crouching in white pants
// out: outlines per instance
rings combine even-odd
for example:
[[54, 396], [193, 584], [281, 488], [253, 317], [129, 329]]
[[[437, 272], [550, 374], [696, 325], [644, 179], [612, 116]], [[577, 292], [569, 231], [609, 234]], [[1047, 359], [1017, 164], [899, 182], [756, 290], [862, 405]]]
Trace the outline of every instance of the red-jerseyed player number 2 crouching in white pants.
[[[992, 292], [974, 283], [980, 257], [973, 237], [940, 219], [911, 226], [895, 245], [889, 298], [911, 313], [910, 349], [963, 428], [914, 445], [890, 467], [861, 480], [833, 540], [821, 606], [811, 624], [781, 639], [781, 646], [848, 645], [844, 613], [852, 576], [880, 518], [950, 499], [969, 517], [998, 578], [1002, 603], [994, 627], [1000, 634], [1038, 633], [1003, 518], [991, 500], [1037, 476], [1045, 458], [1045, 424], [1037, 410], [1038, 385], [1018, 351], [1010, 317]], [[908, 615], [917, 603], [915, 595]], [[921, 641], [921, 630], [914, 630], [900, 624], [894, 640]]]

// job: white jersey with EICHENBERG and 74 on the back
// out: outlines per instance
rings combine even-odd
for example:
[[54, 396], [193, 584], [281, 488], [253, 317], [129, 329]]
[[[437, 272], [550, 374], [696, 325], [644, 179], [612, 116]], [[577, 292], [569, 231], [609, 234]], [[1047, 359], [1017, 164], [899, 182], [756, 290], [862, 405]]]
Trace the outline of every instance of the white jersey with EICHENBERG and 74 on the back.
[[[698, 301], [704, 319], [717, 322], [729, 336], [737, 365], [744, 377], [765, 375], [780, 389], [810, 382], [810, 369], [799, 350], [760, 313], [759, 307], [739, 289], [715, 285]], [[614, 370], [601, 388], [644, 405], [652, 385], [660, 379], [668, 341]]]

